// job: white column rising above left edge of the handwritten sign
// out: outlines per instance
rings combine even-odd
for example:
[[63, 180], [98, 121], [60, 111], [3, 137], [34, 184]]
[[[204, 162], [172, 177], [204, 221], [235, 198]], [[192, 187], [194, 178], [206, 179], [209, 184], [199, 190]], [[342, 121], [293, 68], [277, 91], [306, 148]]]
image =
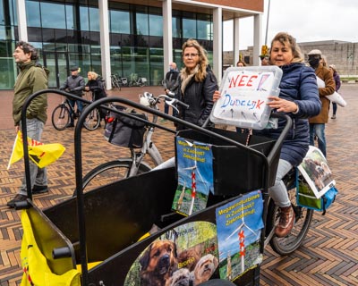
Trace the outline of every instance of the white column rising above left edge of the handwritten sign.
[[223, 77], [223, 10], [221, 7], [213, 11], [213, 71], [220, 85]]

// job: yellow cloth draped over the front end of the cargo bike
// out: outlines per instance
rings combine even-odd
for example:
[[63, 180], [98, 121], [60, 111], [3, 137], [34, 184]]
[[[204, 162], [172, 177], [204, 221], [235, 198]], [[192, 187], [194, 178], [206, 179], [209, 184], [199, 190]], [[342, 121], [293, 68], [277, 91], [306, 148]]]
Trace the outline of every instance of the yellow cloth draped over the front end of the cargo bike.
[[21, 211], [23, 237], [21, 243], [21, 286], [81, 286], [80, 274], [76, 269], [57, 275], [51, 272], [35, 240], [29, 216]]

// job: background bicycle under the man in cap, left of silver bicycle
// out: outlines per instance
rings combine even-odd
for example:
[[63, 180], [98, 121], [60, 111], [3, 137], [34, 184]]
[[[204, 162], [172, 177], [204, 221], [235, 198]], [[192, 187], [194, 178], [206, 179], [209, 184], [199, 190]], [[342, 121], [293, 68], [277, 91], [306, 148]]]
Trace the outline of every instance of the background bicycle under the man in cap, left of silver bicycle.
[[[93, 101], [93, 95], [92, 95]], [[84, 103], [83, 108], [86, 108], [88, 104]], [[80, 113], [75, 111], [75, 109], [70, 105], [70, 101], [67, 97], [64, 97], [63, 102], [60, 105], [57, 105], [52, 112], [51, 121], [56, 130], [65, 130], [71, 122], [71, 116], [73, 116], [73, 121], [80, 117]], [[98, 108], [93, 109], [90, 114], [86, 117], [84, 122], [84, 127], [87, 130], [96, 130], [100, 124], [100, 114]]]

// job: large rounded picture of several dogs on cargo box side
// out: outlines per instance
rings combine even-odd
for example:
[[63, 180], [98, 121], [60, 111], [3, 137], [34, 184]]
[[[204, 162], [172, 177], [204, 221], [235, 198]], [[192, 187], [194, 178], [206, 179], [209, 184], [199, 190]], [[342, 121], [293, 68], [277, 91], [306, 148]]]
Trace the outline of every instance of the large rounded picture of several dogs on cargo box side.
[[196, 286], [217, 274], [217, 227], [185, 223], [150, 243], [133, 263], [124, 286]]

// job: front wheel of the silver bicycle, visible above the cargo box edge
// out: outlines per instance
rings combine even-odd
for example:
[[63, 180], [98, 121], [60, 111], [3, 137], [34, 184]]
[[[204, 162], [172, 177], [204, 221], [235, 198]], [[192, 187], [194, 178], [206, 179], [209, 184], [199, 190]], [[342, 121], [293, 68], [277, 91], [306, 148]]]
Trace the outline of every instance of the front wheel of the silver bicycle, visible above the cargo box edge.
[[[90, 189], [128, 178], [131, 165], [132, 159], [130, 158], [118, 159], [98, 165], [84, 176], [82, 182], [83, 191], [89, 191]], [[149, 172], [150, 170], [151, 168], [147, 164], [141, 163], [137, 174]], [[75, 195], [76, 191], [73, 192], [73, 196]]]

